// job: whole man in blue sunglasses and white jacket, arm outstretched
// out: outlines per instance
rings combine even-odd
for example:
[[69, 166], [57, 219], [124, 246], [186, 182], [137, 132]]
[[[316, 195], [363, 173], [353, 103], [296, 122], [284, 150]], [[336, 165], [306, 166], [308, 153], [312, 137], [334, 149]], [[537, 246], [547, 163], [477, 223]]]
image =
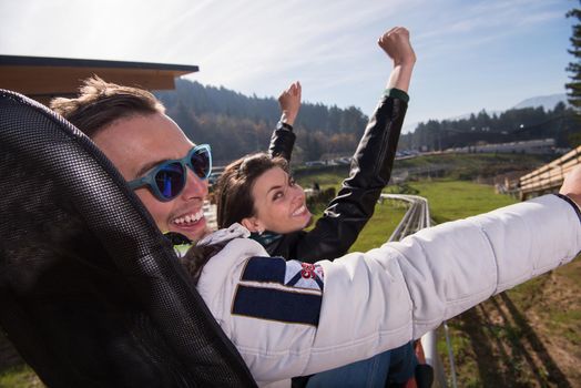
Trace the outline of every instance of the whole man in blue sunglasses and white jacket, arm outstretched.
[[[193, 241], [206, 234], [202, 204], [207, 195], [205, 178], [211, 167], [210, 149], [193, 144], [164, 114], [163, 106], [151, 93], [92, 79], [85, 82], [81, 96], [57, 99], [51, 108], [93, 139], [135, 188], [162, 232], [176, 232]], [[208, 236], [206, 242], [220, 244], [223, 243], [220, 238], [226, 238], [228, 245], [220, 252], [220, 257], [208, 262], [211, 268], [204, 268], [206, 277], [200, 278], [206, 287], [198, 284], [198, 289], [206, 303], [213, 302], [208, 303], [210, 309], [220, 318], [258, 381], [272, 382], [327, 370], [399, 346], [492, 293], [572, 259], [581, 249], [581, 213], [578, 207], [581, 203], [581, 170], [568, 177], [561, 194], [560, 198], [544, 196], [528, 204], [441, 225], [401, 244], [387, 244], [333, 263], [319, 262], [324, 270], [319, 278], [322, 285], [317, 283], [319, 289], [251, 282], [285, 275], [286, 272], [273, 273], [271, 267], [276, 265], [285, 269], [287, 262], [265, 261], [266, 252], [255, 242], [237, 238], [231, 243], [227, 238], [236, 236], [220, 231]], [[200, 245], [203, 247], [204, 244]], [[254, 252], [256, 255], [252, 256]], [[436, 259], [441, 263], [429, 264]], [[267, 266], [251, 268], [244, 265], [251, 261]], [[374, 275], [367, 277], [367, 269], [371, 267], [377, 270], [369, 272]], [[221, 274], [224, 282], [207, 275], [216, 268], [224, 268]], [[235, 293], [237, 284], [243, 280], [243, 269], [251, 279], [247, 288], [266, 296], [262, 304], [245, 304]], [[361, 296], [366, 295], [367, 288], [364, 287], [365, 293], [357, 293], [354, 288], [367, 280], [374, 287], [370, 295], [375, 305]], [[221, 288], [226, 286], [226, 290]], [[275, 298], [281, 293], [273, 293], [275, 286], [296, 309], [275, 310], [276, 306], [282, 306]], [[221, 297], [208, 299], [211, 292]], [[315, 304], [297, 305], [305, 295]], [[223, 304], [216, 305], [216, 300]], [[389, 300], [394, 303], [386, 303]], [[346, 306], [349, 308], [345, 309]], [[245, 315], [235, 314], [233, 308]], [[343, 321], [340, 314], [344, 310], [350, 318], [345, 320], [343, 316], [345, 325], [330, 327], [329, 321]], [[269, 315], [273, 313], [284, 316], [273, 318]], [[293, 319], [287, 320], [289, 314]], [[368, 314], [379, 315], [377, 319], [369, 319]], [[370, 336], [373, 347], [354, 343], [358, 347], [333, 351], [333, 345], [342, 339], [342, 334], [351, 339], [360, 335], [359, 326], [351, 323], [367, 325], [366, 330], [375, 330], [369, 325], [381, 323], [385, 326], [380, 327], [381, 330], [386, 329], [381, 344], [376, 344], [375, 337]], [[398, 330], [391, 330], [396, 326], [390, 325], [396, 325]], [[353, 336], [348, 331], [351, 327], [356, 329]], [[232, 333], [233, 329], [238, 331]], [[288, 336], [294, 340], [288, 346], [304, 346], [305, 353], [288, 351], [289, 347], [282, 340], [290, 338]], [[312, 353], [316, 346], [330, 353]], [[282, 348], [269, 351], [269, 347]]]

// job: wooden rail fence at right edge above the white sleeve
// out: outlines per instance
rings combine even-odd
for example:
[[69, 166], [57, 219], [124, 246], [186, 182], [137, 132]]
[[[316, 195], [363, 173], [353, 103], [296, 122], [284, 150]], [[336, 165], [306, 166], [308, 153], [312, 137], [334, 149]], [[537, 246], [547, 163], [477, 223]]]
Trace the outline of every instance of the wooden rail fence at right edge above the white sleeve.
[[521, 200], [555, 191], [563, 183], [567, 173], [580, 163], [581, 145], [542, 167], [521, 176], [519, 180]]

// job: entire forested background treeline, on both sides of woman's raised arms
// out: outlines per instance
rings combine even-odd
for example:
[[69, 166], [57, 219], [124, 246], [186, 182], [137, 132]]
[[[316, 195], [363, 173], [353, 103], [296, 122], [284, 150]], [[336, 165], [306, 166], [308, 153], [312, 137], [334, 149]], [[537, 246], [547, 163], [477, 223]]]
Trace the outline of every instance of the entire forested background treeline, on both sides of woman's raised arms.
[[[204, 86], [176, 80], [174, 91], [156, 92], [186, 134], [196, 143], [210, 143], [217, 165], [252, 152], [266, 151], [281, 116], [274, 98], [246, 96], [225, 88]], [[509, 110], [489, 115], [486, 111], [462, 120], [430, 120], [400, 139], [399, 150], [435, 151], [481, 143], [553, 137], [559, 147], [580, 144], [581, 131], [574, 112], [564, 103], [543, 108]], [[325, 155], [350, 155], [368, 118], [355, 106], [339, 109], [305, 103], [295, 122], [295, 161]]]

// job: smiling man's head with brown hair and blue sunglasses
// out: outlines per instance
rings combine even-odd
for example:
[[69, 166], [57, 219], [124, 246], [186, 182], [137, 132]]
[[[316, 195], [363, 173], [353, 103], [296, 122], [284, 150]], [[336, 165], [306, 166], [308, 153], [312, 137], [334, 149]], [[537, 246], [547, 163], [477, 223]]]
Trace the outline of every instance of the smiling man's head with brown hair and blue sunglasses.
[[51, 108], [113, 162], [163, 233], [191, 241], [207, 233], [210, 146], [192, 143], [153, 94], [95, 76], [78, 99], [54, 99]]

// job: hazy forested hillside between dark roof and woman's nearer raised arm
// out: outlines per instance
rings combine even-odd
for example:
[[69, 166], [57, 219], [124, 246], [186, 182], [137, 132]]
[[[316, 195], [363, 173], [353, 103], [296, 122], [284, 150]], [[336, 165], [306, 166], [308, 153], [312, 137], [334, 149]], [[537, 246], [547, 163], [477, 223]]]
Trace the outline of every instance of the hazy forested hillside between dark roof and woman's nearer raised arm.
[[[212, 145], [216, 164], [266, 151], [281, 118], [274, 98], [246, 96], [187, 80], [176, 80], [174, 91], [155, 94], [193, 141]], [[305, 103], [295, 122], [297, 142], [293, 159], [309, 161], [329, 153], [353, 153], [366, 123], [367, 116], [354, 106]]]

